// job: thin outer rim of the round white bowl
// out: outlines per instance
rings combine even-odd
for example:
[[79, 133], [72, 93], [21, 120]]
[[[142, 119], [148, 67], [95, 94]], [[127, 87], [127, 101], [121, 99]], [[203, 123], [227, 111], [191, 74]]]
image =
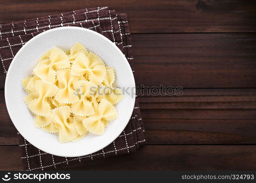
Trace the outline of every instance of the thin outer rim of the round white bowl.
[[[130, 66], [129, 62], [127, 61], [127, 59], [126, 59], [125, 55], [123, 54], [123, 52], [120, 51], [120, 49], [116, 46], [116, 44], [113, 43], [112, 41], [110, 41], [107, 37], [103, 36], [102, 34], [97, 33], [96, 31], [93, 31], [93, 30], [90, 30], [90, 29], [82, 28], [82, 27], [74, 27], [74, 26], [56, 27], [56, 28], [54, 28], [54, 29], [46, 30], [46, 31], [44, 31], [44, 32], [42, 32], [42, 33], [40, 33], [40, 34], [34, 36], [34, 37], [31, 38], [29, 41], [27, 41], [26, 44], [24, 44], [24, 45], [21, 47], [21, 49], [19, 49], [19, 51], [16, 53], [16, 55], [15, 55], [14, 58], [12, 59], [11, 64], [10, 64], [8, 70], [10, 70], [10, 69], [14, 66], [14, 64], [15, 64], [15, 62], [16, 62], [16, 61], [15, 61], [15, 60], [16, 60], [16, 57], [18, 57], [18, 55], [23, 51], [23, 49], [26, 48], [26, 46], [28, 46], [28, 45], [30, 44], [30, 42], [36, 40], [37, 38], [39, 38], [39, 37], [41, 37], [41, 36], [44, 36], [45, 34], [48, 34], [49, 32], [57, 31], [57, 30], [62, 30], [62, 29], [74, 29], [74, 30], [82, 30], [82, 31], [85, 31], [85, 32], [89, 32], [89, 33], [94, 34], [95, 36], [99, 36], [99, 37], [103, 38], [103, 39], [104, 39], [105, 41], [107, 41], [108, 43], [114, 45], [114, 48], [119, 52], [119, 54], [123, 57], [123, 59], [125, 59], [125, 63], [127, 64], [128, 70], [129, 70], [129, 72], [130, 72], [130, 74], [131, 74], [131, 76], [132, 76], [132, 77], [131, 77], [131, 79], [132, 79], [131, 82], [133, 83], [133, 86], [136, 87], [136, 85], [135, 85], [135, 79], [134, 79], [134, 75], [133, 75], [133, 71], [131, 70], [131, 66]], [[7, 107], [7, 111], [8, 111], [8, 114], [9, 114], [10, 118], [11, 118], [12, 123], [14, 124], [16, 130], [18, 130], [18, 132], [19, 132], [19, 129], [20, 129], [20, 128], [19, 128], [19, 127], [17, 128], [17, 126], [15, 125], [15, 123], [14, 123], [13, 120], [12, 120], [12, 116], [10, 115], [10, 111], [12, 111], [12, 109], [11, 109], [11, 107], [10, 107], [8, 101], [11, 100], [11, 99], [7, 97], [7, 93], [6, 93], [6, 91], [7, 91], [6, 88], [7, 88], [7, 85], [8, 85], [8, 78], [9, 78], [9, 77], [10, 77], [10, 72], [7, 71], [7, 75], [6, 75], [6, 78], [5, 78], [5, 85], [4, 85], [5, 105], [6, 105], [6, 107]], [[31, 145], [35, 146], [36, 148], [38, 148], [38, 149], [40, 149], [40, 150], [42, 150], [42, 151], [44, 151], [44, 152], [46, 152], [46, 153], [53, 154], [53, 155], [55, 155], [55, 156], [61, 156], [61, 157], [86, 156], [86, 155], [88, 155], [88, 154], [95, 153], [95, 152], [97, 152], [97, 151], [103, 149], [104, 147], [110, 145], [110, 144], [111, 144], [113, 141], [115, 141], [115, 139], [118, 138], [118, 136], [123, 132], [123, 130], [125, 129], [125, 127], [126, 127], [127, 124], [129, 123], [130, 117], [131, 117], [131, 115], [132, 115], [132, 113], [133, 113], [133, 110], [134, 110], [134, 105], [135, 105], [136, 97], [132, 97], [131, 99], [132, 99], [132, 108], [130, 109], [130, 111], [128, 111], [129, 109], [127, 109], [127, 113], [129, 114], [129, 115], [128, 115], [128, 116], [129, 116], [129, 119], [128, 119], [127, 122], [125, 123], [125, 126], [124, 126], [122, 129], [120, 128], [120, 132], [118, 131], [118, 133], [116, 133], [117, 135], [115, 136], [115, 138], [112, 138], [112, 139], [109, 141], [109, 143], [105, 144], [104, 146], [101, 146], [101, 147], [97, 148], [96, 150], [93, 150], [93, 152], [88, 152], [88, 153], [85, 153], [85, 154], [84, 154], [84, 153], [80, 153], [80, 154], [77, 153], [77, 154], [70, 155], [70, 156], [69, 156], [69, 155], [63, 156], [62, 154], [59, 154], [59, 153], [49, 152], [48, 150], [46, 150], [46, 149], [44, 149], [44, 148], [42, 148], [42, 147], [39, 148], [38, 146], [40, 146], [40, 145], [35, 144], [33, 141], [32, 141], [33, 143], [31, 143], [31, 142], [29, 141], [29, 140], [30, 140], [31, 138], [33, 138], [33, 137], [30, 137], [29, 135], [26, 135], [26, 134], [24, 135], [24, 134], [22, 134], [22, 132], [19, 132], [19, 133], [26, 139], [26, 141], [28, 141], [29, 143], [31, 143]], [[120, 116], [118, 116], [118, 117], [120, 117]], [[35, 127], [35, 128], [36, 128], [36, 127]], [[46, 133], [47, 133], [47, 132], [46, 132]], [[68, 143], [71, 143], [71, 142], [68, 142]]]

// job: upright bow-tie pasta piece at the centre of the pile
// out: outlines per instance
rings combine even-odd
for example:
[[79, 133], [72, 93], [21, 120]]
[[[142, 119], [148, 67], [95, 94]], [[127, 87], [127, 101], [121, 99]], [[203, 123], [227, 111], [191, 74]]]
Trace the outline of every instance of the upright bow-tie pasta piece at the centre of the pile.
[[72, 104], [79, 100], [72, 85], [75, 81], [78, 81], [78, 76], [72, 76], [70, 69], [63, 69], [57, 71], [57, 80], [64, 84], [64, 87], [59, 89], [55, 95], [55, 100], [59, 103]]

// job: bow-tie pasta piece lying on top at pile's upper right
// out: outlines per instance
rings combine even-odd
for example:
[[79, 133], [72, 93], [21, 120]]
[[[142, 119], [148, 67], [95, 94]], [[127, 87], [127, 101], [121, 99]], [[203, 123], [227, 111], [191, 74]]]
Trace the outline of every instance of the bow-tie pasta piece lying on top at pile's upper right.
[[93, 68], [89, 67], [90, 61], [84, 54], [80, 54], [75, 59], [71, 67], [71, 75], [82, 76], [88, 74], [88, 79], [95, 85], [103, 82], [106, 75], [106, 68], [103, 65], [96, 65]]

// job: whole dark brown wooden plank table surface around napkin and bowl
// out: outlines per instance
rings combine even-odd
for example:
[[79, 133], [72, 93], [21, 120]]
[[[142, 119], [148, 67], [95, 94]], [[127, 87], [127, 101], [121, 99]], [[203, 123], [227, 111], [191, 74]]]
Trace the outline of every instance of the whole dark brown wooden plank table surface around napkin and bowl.
[[[0, 23], [98, 6], [128, 14], [137, 86], [183, 95], [139, 97], [148, 145], [138, 152], [63, 169], [255, 170], [255, 1], [0, 0]], [[21, 170], [0, 69], [0, 170]]]

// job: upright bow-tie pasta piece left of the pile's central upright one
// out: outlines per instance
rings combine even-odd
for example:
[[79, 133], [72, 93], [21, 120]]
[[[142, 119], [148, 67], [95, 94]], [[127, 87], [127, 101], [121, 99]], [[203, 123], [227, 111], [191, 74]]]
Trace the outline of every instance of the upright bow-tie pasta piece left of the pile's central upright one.
[[37, 80], [35, 83], [35, 89], [35, 93], [38, 94], [38, 97], [29, 102], [28, 107], [30, 111], [36, 115], [50, 116], [51, 106], [48, 103], [47, 98], [54, 96], [58, 91], [58, 87], [52, 83]]

